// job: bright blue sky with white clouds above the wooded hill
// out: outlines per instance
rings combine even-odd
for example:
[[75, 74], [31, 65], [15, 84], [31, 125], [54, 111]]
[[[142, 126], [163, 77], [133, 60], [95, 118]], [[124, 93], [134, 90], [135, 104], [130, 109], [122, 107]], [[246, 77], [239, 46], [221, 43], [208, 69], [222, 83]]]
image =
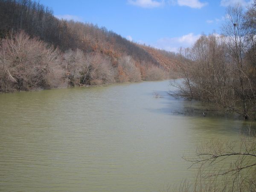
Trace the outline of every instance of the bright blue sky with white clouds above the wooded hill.
[[97, 24], [160, 49], [191, 46], [202, 33], [220, 33], [227, 6], [253, 0], [40, 0], [54, 15]]

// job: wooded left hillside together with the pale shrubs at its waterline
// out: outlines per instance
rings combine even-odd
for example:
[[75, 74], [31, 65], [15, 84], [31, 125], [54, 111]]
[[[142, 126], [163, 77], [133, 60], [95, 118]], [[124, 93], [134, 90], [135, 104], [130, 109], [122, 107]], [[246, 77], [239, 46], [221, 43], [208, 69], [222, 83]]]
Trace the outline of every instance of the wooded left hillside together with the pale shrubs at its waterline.
[[59, 20], [32, 0], [0, 0], [0, 18], [2, 92], [158, 80], [171, 70], [138, 44], [90, 23]]

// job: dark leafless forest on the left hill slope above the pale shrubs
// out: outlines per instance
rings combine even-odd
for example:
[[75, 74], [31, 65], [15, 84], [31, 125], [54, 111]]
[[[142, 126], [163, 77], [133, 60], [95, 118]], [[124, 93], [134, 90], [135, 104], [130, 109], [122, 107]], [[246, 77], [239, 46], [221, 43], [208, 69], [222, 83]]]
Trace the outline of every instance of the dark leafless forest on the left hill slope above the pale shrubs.
[[98, 51], [113, 59], [125, 53], [138, 61], [157, 61], [144, 49], [106, 28], [90, 23], [59, 20], [48, 7], [32, 0], [0, 0], [0, 38], [10, 31], [25, 31], [30, 37], [58, 46], [61, 51]]

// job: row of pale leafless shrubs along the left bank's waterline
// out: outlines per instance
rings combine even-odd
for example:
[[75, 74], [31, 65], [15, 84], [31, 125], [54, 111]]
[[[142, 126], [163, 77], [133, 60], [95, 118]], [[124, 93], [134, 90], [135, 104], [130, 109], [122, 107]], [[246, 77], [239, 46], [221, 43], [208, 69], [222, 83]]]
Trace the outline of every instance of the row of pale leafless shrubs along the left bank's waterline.
[[157, 66], [145, 69], [129, 55], [123, 55], [115, 67], [110, 58], [98, 52], [80, 49], [61, 52], [21, 31], [2, 39], [0, 47], [0, 91], [94, 86], [142, 80], [167, 79], [166, 70]]

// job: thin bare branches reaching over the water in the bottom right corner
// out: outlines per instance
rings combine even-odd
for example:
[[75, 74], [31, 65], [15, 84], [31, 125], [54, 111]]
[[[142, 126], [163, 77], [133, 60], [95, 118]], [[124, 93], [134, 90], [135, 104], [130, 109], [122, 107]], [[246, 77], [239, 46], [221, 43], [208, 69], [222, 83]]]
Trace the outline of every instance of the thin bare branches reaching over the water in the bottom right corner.
[[193, 191], [256, 191], [255, 134], [239, 140], [211, 140], [196, 151], [196, 157], [184, 158], [198, 166]]

